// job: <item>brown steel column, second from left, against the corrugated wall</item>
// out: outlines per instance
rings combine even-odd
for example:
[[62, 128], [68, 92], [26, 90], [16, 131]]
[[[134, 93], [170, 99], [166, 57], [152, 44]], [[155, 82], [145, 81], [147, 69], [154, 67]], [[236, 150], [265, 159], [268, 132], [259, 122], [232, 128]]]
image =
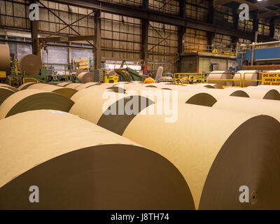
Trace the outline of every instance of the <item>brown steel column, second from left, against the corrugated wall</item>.
[[97, 10], [94, 15], [94, 36], [95, 36], [95, 64], [94, 69], [101, 69], [102, 50], [101, 50], [101, 10]]

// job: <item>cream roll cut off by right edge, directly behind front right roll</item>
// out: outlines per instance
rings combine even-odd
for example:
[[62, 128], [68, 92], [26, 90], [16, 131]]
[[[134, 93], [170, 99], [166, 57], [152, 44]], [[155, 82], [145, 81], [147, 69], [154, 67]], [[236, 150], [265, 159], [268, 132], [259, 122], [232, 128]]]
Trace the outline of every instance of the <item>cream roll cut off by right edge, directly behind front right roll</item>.
[[264, 114], [272, 116], [280, 122], [280, 102], [276, 100], [226, 97], [218, 100], [213, 107], [229, 111], [252, 113], [255, 115]]

